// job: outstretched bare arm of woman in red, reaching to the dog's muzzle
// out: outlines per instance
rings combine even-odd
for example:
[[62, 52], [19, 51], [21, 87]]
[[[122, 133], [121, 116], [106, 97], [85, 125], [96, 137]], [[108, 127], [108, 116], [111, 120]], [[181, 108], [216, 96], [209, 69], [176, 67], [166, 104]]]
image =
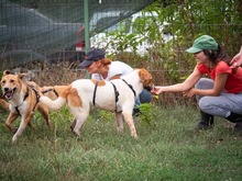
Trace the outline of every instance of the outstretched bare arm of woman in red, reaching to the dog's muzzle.
[[198, 82], [198, 80], [201, 78], [201, 73], [198, 71], [197, 67], [195, 67], [193, 73], [183, 82], [183, 83], [177, 83], [177, 84], [173, 84], [173, 86], [156, 86], [154, 88], [154, 90], [152, 90], [152, 93], [154, 94], [160, 94], [163, 92], [184, 92], [184, 91], [188, 91], [191, 88], [194, 88], [194, 86]]

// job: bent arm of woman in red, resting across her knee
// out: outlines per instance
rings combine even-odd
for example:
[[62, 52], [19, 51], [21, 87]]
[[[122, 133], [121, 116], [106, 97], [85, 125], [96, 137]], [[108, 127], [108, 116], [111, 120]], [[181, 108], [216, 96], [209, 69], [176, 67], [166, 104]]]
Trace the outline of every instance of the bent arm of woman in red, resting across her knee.
[[195, 94], [197, 95], [210, 95], [210, 97], [218, 97], [220, 93], [224, 90], [227, 79], [229, 77], [229, 73], [220, 73], [217, 75], [215, 80], [213, 89], [190, 89], [188, 91], [184, 92], [185, 97], [193, 97]]

